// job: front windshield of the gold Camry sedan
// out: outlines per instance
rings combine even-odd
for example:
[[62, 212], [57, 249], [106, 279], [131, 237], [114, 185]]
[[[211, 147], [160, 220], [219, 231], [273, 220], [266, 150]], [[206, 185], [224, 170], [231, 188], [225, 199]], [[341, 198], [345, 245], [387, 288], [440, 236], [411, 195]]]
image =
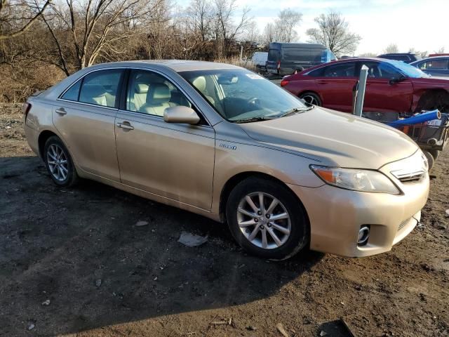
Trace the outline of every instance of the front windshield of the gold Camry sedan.
[[228, 121], [274, 119], [310, 109], [299, 98], [249, 70], [196, 70], [180, 75]]

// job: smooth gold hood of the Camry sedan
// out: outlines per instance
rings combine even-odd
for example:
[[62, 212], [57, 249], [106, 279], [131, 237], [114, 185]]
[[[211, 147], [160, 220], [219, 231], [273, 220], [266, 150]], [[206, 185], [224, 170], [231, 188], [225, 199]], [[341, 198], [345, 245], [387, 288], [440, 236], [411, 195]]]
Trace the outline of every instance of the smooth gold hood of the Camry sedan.
[[401, 131], [320, 107], [269, 121], [239, 124], [260, 143], [318, 159], [323, 165], [379, 169], [417, 145]]

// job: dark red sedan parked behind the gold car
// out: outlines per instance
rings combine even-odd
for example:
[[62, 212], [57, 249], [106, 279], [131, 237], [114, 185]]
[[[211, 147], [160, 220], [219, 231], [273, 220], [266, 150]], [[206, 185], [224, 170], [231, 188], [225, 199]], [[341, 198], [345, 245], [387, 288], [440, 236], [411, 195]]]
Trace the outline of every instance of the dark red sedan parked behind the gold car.
[[352, 90], [368, 67], [363, 112], [407, 114], [438, 108], [449, 112], [449, 79], [430, 77], [404, 62], [351, 58], [284, 77], [281, 86], [306, 103], [351, 112]]

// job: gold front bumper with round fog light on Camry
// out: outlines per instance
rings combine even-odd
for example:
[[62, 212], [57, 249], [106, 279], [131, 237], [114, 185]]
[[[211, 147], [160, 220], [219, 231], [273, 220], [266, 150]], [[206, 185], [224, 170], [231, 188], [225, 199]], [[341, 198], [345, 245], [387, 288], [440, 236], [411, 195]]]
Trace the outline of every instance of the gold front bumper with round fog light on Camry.
[[[355, 192], [330, 185], [289, 187], [309, 216], [312, 250], [363, 257], [391, 250], [413, 230], [427, 201], [429, 175], [402, 186], [401, 195]], [[357, 245], [361, 225], [370, 225], [365, 246]]]

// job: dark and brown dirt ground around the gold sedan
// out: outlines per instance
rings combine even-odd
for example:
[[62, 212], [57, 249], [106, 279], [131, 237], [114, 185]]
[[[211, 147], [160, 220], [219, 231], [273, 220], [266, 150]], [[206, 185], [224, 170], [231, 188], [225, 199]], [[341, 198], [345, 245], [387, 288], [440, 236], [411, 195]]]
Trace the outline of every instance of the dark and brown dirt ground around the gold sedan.
[[[0, 105], [1, 336], [449, 336], [449, 152], [422, 226], [389, 253], [246, 255], [225, 225], [83, 181], [51, 182]], [[148, 225], [138, 227], [139, 220]], [[185, 230], [208, 235], [196, 248]]]

